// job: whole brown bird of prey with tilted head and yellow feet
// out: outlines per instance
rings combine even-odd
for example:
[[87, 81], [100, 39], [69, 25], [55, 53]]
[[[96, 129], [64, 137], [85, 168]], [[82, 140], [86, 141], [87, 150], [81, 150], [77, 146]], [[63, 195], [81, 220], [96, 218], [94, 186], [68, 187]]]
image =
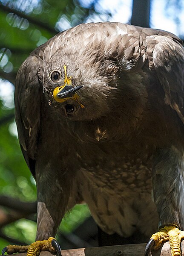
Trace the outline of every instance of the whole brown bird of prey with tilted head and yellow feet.
[[80, 24], [23, 62], [14, 100], [20, 147], [37, 185], [37, 236], [3, 253], [59, 254], [58, 225], [84, 200], [104, 232], [151, 236], [146, 256], [165, 241], [173, 256], [181, 255], [180, 38], [118, 22]]

